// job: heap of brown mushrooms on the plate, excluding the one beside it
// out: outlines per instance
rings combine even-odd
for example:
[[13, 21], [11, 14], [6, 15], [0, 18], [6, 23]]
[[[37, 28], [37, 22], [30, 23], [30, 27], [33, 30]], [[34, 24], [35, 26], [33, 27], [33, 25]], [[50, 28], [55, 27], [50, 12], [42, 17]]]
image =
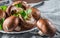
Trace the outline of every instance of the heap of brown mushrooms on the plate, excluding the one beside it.
[[[23, 10], [22, 15], [28, 12], [28, 18], [25, 17], [26, 19], [24, 19], [20, 14], [21, 10]], [[36, 27], [36, 22], [40, 18], [40, 11], [28, 5], [25, 1], [13, 2], [7, 6], [5, 11], [0, 9], [0, 14], [0, 19], [4, 18], [2, 25], [5, 32], [19, 32], [32, 29]]]

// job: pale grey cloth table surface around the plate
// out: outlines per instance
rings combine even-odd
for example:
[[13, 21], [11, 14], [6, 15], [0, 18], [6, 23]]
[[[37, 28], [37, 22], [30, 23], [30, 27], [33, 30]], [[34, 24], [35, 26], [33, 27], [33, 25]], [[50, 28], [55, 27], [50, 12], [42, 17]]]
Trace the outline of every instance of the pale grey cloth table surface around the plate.
[[[46, 0], [42, 6], [38, 5], [41, 15], [55, 24], [56, 28], [60, 31], [60, 0]], [[60, 34], [55, 35], [54, 38], [60, 38]], [[34, 35], [32, 33], [24, 34], [2, 34], [0, 38], [48, 38]]]

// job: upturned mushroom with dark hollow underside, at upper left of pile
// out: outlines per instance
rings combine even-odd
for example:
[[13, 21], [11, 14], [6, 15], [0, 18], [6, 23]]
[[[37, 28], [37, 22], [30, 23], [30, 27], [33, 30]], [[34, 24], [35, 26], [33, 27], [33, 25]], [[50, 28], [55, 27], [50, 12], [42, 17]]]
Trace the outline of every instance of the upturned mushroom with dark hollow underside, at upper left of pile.
[[8, 16], [11, 16], [13, 14], [18, 13], [21, 9], [22, 8], [17, 8], [15, 6], [10, 5], [10, 6], [8, 6], [8, 8], [6, 10], [6, 13], [7, 13]]

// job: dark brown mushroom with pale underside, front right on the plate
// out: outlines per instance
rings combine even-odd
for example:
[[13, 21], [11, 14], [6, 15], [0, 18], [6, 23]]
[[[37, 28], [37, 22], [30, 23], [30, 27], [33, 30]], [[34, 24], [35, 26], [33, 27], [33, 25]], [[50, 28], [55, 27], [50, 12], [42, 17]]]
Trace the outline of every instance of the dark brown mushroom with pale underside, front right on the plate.
[[25, 20], [21, 22], [21, 29], [22, 30], [29, 30], [36, 27], [36, 21], [33, 17], [31, 17], [29, 20]]

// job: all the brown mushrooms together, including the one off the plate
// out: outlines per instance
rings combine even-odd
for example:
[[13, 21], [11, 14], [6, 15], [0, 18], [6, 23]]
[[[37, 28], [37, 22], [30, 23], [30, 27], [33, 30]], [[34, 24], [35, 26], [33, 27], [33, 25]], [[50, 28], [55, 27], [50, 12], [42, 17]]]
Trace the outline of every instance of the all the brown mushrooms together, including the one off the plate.
[[[19, 12], [21, 10], [26, 11], [28, 9], [31, 9], [31, 13], [28, 14], [28, 19], [24, 19], [23, 16], [19, 14]], [[14, 14], [18, 15], [15, 16]], [[52, 37], [56, 33], [55, 26], [48, 19], [42, 18], [40, 16], [40, 11], [37, 8], [31, 7], [25, 1], [13, 2], [7, 7], [6, 11], [0, 9], [0, 19], [1, 18], [5, 18], [3, 22], [3, 30], [6, 32], [19, 32], [23, 30], [29, 30], [33, 27], [38, 27], [38, 29], [44, 35]]]

